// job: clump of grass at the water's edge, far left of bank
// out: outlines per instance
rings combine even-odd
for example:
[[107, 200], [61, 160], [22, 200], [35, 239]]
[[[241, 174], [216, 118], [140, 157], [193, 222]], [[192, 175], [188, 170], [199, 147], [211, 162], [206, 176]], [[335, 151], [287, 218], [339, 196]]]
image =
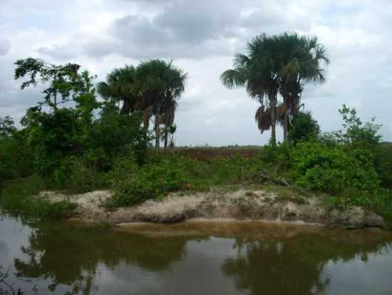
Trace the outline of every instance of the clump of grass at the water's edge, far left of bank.
[[1, 191], [1, 207], [15, 214], [36, 218], [63, 219], [71, 216], [76, 204], [70, 201], [52, 203], [48, 199], [34, 197], [45, 187], [45, 181], [38, 176], [10, 181]]

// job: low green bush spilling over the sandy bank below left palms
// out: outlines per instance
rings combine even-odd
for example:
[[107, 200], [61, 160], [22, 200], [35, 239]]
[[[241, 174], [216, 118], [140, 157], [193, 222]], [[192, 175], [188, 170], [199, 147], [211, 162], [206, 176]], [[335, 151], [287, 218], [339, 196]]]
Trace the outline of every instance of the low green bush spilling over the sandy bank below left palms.
[[181, 169], [168, 160], [160, 164], [147, 164], [129, 179], [115, 186], [115, 206], [132, 206], [147, 199], [159, 199], [171, 191], [178, 191], [187, 185]]

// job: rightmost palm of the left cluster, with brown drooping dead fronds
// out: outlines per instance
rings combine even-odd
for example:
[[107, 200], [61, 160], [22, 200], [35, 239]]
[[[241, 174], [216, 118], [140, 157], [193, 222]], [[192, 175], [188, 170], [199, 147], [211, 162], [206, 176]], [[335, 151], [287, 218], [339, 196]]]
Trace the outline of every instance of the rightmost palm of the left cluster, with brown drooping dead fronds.
[[[174, 121], [177, 99], [185, 91], [187, 74], [172, 65], [172, 61], [152, 59], [139, 64], [138, 92], [145, 110], [145, 121], [154, 116], [155, 148], [160, 147], [160, 125]], [[164, 120], [163, 120], [164, 119]]]

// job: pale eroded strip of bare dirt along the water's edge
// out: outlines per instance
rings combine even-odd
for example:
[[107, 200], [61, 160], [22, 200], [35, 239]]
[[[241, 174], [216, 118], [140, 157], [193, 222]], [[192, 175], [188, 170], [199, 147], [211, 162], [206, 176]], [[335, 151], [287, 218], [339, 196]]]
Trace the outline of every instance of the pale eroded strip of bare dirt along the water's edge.
[[[292, 222], [331, 227], [384, 227], [381, 216], [353, 207], [346, 211], [327, 210], [321, 199], [313, 196], [306, 201], [283, 200], [270, 191], [213, 189], [182, 195], [170, 194], [162, 201], [148, 200], [139, 206], [109, 211], [103, 203], [113, 197], [110, 191], [64, 195], [43, 191], [39, 195], [51, 201], [69, 200], [78, 205], [74, 218], [125, 224], [133, 222], [175, 223], [188, 219], [251, 220]], [[305, 197], [304, 197], [305, 198]]]

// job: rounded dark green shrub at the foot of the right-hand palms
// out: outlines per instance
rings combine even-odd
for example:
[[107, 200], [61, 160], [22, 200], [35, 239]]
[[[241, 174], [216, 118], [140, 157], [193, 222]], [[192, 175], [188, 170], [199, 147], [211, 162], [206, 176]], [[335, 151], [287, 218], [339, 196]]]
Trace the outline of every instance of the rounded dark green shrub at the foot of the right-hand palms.
[[320, 133], [320, 126], [310, 112], [301, 112], [294, 116], [290, 126], [289, 139], [294, 144], [299, 141], [316, 139]]

